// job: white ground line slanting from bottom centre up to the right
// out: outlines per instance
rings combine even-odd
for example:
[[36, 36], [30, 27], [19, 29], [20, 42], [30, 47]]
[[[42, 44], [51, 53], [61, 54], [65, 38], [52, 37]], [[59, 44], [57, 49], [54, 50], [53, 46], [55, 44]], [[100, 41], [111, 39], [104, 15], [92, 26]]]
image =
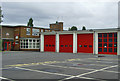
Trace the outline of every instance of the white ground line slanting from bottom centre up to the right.
[[[95, 72], [98, 72], [98, 71], [102, 71], [102, 70], [109, 69], [109, 68], [113, 68], [113, 67], [117, 67], [117, 66], [118, 66], [118, 65], [105, 67], [105, 68], [102, 68], [102, 69], [99, 69], [99, 70], [94, 70], [94, 71], [91, 71], [91, 72], [83, 73], [83, 74], [77, 75], [77, 76], [75, 76], [75, 77], [81, 77], [81, 76], [83, 76], [83, 75], [92, 74], [92, 73], [95, 73]], [[68, 79], [72, 79], [72, 78], [75, 78], [75, 77], [71, 76], [71, 77], [62, 79], [61, 81], [68, 80]]]

